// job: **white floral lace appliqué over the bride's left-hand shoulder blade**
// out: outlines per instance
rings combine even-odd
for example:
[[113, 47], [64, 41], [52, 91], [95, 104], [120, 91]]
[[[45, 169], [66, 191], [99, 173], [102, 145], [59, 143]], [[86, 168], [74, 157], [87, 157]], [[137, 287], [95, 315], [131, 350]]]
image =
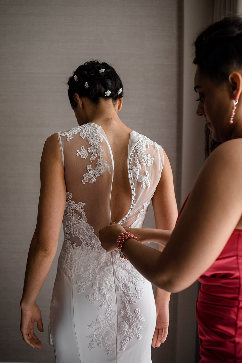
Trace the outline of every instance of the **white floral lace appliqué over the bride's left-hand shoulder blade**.
[[97, 160], [97, 167], [92, 168], [89, 164], [86, 169], [87, 173], [83, 175], [83, 184], [88, 182], [88, 179], [91, 179], [89, 183], [96, 183], [96, 178], [102, 174], [106, 170], [108, 170], [109, 174], [112, 170], [112, 166], [109, 165], [105, 160], [103, 160], [102, 148], [99, 143], [102, 142], [103, 137], [100, 134], [100, 126], [96, 125], [95, 123], [86, 123], [82, 126], [74, 127], [74, 129], [70, 129], [69, 131], [65, 131], [61, 134], [61, 136], [67, 136], [67, 141], [69, 142], [72, 139], [72, 135], [80, 133], [82, 139], [85, 137], [87, 138], [89, 144], [91, 145], [88, 150], [85, 150], [84, 146], [81, 147], [81, 150], [77, 150], [77, 156], [81, 156], [81, 158], [87, 158], [88, 154], [92, 153], [90, 157], [90, 162], [93, 162], [97, 155], [99, 159]]

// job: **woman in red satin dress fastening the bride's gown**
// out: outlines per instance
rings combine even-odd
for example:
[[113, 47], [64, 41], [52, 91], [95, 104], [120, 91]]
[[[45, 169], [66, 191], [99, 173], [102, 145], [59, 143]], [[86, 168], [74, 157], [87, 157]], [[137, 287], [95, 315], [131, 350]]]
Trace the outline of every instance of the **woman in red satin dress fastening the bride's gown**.
[[[173, 232], [128, 229], [166, 244], [163, 252], [134, 238], [119, 249], [144, 277], [170, 292], [197, 279], [200, 363], [242, 362], [242, 19], [224, 18], [195, 41], [197, 114], [205, 119], [207, 159]], [[101, 230], [116, 248], [124, 229]], [[123, 243], [123, 241], [125, 241]]]

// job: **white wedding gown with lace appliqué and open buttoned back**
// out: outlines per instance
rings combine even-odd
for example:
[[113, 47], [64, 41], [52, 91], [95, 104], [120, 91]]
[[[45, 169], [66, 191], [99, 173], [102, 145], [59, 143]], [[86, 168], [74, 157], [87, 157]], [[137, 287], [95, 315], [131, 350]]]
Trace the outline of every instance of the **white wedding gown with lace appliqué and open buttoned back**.
[[[151, 363], [156, 326], [152, 286], [118, 252], [106, 252], [100, 228], [112, 221], [112, 150], [101, 126], [59, 132], [67, 190], [64, 242], [50, 327], [57, 363]], [[142, 227], [164, 163], [161, 146], [130, 133], [132, 201], [119, 222]]]

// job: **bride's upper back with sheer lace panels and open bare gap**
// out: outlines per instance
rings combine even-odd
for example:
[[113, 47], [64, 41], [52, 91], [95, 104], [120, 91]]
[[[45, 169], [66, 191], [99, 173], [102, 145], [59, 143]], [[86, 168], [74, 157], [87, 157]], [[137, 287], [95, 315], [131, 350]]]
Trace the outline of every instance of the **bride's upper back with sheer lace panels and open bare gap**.
[[97, 236], [111, 221], [130, 226], [147, 209], [164, 162], [158, 144], [122, 123], [113, 130], [87, 123], [59, 133], [70, 203], [81, 203], [76, 213]]

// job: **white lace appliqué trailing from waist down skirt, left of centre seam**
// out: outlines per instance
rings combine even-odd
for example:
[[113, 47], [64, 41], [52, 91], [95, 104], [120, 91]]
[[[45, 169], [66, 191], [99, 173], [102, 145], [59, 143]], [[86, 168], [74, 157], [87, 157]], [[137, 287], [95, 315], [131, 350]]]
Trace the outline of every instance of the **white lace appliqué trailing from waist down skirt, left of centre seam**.
[[[114, 289], [111, 256], [102, 248], [99, 239], [93, 233], [93, 228], [87, 223], [83, 209], [85, 203], [76, 204], [71, 200], [72, 193], [66, 193], [66, 195], [63, 218], [65, 236], [60, 254], [61, 267], [67, 276], [74, 277], [74, 273], [80, 274], [80, 280], [74, 282], [74, 286], [78, 288], [78, 294], [84, 292], [86, 286], [92, 285], [94, 292], [88, 294], [86, 298], [92, 305], [100, 303], [100, 310], [106, 307], [105, 317], [102, 319], [98, 316], [96, 322], [88, 325], [88, 329], [95, 330], [87, 338], [92, 338], [89, 343], [90, 350], [95, 347], [95, 344], [100, 348], [102, 345], [109, 354], [112, 351], [109, 340], [116, 331], [114, 318], [117, 314], [112, 309], [113, 302], [110, 295], [110, 291]], [[81, 246], [77, 246], [75, 242], [71, 243], [69, 234], [80, 238]]]

